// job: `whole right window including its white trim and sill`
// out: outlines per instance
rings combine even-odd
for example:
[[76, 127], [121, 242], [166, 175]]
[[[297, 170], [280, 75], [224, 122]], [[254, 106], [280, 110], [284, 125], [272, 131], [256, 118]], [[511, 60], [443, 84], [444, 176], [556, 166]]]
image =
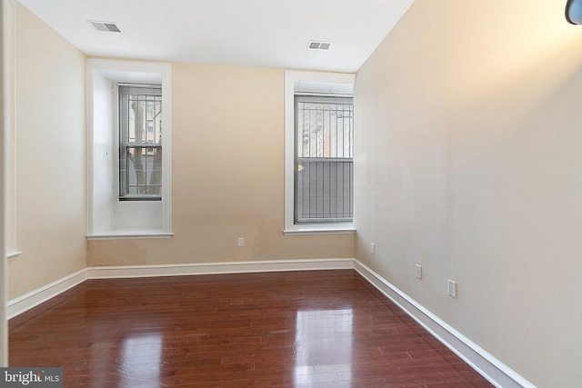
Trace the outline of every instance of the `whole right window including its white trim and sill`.
[[285, 234], [355, 232], [354, 82], [286, 72]]

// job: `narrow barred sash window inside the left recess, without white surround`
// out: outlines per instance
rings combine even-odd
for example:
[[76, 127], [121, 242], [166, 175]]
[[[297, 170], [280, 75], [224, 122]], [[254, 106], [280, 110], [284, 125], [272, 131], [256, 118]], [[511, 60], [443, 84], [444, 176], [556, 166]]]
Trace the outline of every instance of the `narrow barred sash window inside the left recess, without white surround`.
[[119, 85], [119, 199], [162, 198], [162, 87]]

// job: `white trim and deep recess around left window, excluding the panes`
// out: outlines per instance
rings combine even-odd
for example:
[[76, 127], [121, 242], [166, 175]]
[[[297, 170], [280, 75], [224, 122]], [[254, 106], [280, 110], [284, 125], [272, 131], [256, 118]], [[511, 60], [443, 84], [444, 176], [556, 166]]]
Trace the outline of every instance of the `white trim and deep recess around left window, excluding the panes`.
[[[87, 239], [172, 236], [171, 72], [170, 64], [87, 60]], [[119, 198], [117, 85], [120, 83], [162, 85], [164, 153], [161, 201], [121, 201]], [[104, 85], [108, 85], [110, 90], [105, 91]], [[101, 108], [99, 99], [104, 98], [106, 102]]]

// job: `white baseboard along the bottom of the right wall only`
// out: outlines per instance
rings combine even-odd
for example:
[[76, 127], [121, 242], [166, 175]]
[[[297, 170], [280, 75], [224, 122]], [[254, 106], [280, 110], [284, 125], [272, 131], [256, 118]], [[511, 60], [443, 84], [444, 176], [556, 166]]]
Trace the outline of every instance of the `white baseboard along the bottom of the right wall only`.
[[424, 306], [416, 303], [414, 299], [400, 291], [394, 284], [387, 282], [365, 264], [355, 260], [354, 269], [493, 385], [500, 388], [536, 388], [534, 384], [529, 383], [505, 363], [501, 363]]

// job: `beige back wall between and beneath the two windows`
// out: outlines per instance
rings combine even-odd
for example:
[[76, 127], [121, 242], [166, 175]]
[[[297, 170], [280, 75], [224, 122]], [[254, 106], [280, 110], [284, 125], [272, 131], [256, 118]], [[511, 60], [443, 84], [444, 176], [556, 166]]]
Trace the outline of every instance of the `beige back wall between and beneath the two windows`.
[[[283, 235], [284, 71], [172, 65], [170, 239], [90, 241], [89, 265], [353, 257], [354, 236]], [[237, 237], [245, 247], [236, 246]]]

